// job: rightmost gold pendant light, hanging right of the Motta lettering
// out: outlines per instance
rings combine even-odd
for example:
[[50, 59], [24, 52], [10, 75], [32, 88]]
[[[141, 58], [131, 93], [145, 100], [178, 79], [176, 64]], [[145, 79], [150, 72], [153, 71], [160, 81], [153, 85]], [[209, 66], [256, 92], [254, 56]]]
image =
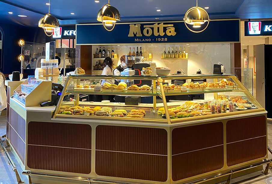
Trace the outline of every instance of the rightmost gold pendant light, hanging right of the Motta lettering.
[[[191, 32], [202, 32], [204, 31], [208, 25], [209, 25], [209, 15], [208, 13], [201, 7], [195, 6], [193, 8], [190, 8], [183, 18], [185, 26], [191, 31]], [[187, 24], [193, 25], [193, 28], [200, 28], [202, 24], [207, 23], [206, 27], [204, 29], [201, 29], [200, 31], [192, 30], [188, 27]]]

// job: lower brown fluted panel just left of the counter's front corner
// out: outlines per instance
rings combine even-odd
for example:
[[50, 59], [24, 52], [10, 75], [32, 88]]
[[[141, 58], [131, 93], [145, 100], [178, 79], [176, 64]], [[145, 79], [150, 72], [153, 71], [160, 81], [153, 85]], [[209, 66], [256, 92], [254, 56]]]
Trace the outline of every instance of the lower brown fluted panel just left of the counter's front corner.
[[167, 180], [167, 156], [96, 151], [95, 165], [100, 176], [159, 182]]

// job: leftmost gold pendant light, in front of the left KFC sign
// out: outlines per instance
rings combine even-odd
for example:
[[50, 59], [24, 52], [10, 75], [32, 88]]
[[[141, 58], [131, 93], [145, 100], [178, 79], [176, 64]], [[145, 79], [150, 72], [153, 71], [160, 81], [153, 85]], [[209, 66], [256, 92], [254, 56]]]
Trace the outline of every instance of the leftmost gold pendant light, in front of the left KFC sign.
[[39, 20], [38, 26], [44, 29], [44, 32], [47, 36], [53, 35], [53, 29], [59, 27], [60, 23], [56, 17], [50, 14], [50, 0], [49, 0], [49, 9], [48, 14], [41, 17]]

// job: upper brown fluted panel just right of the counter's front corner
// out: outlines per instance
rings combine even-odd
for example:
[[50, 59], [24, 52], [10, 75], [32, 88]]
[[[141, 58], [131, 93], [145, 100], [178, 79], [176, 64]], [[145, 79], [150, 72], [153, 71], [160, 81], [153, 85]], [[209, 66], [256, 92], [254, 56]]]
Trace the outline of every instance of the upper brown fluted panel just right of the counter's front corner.
[[172, 155], [223, 144], [223, 123], [175, 128], [172, 131]]

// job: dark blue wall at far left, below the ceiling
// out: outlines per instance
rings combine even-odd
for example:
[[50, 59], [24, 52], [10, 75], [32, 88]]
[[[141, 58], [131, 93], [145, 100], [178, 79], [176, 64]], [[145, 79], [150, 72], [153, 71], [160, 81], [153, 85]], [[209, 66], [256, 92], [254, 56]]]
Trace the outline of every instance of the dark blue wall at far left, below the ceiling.
[[45, 44], [45, 34], [41, 28], [26, 27], [15, 23], [2, 22], [0, 27], [4, 31], [3, 35], [3, 60], [0, 71], [4, 74], [11, 74], [13, 71], [21, 71], [21, 64], [17, 57], [21, 54], [18, 45], [20, 38], [28, 42]]

